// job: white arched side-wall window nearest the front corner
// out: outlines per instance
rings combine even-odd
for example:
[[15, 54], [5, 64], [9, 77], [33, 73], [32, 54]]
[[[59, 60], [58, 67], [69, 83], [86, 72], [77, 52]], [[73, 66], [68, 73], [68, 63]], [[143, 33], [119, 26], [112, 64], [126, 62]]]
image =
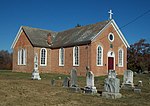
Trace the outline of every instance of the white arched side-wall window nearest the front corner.
[[79, 66], [79, 47], [73, 47], [73, 66]]

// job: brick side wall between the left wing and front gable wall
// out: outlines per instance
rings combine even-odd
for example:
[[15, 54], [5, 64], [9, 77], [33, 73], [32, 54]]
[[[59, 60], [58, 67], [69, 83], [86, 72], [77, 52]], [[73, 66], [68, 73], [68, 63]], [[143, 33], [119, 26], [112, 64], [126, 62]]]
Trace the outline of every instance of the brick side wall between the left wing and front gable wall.
[[79, 66], [73, 66], [73, 47], [64, 48], [65, 49], [65, 62], [64, 66], [59, 66], [59, 49], [54, 49], [51, 52], [51, 70], [54, 73], [63, 73], [70, 74], [70, 71], [75, 67], [78, 72], [78, 75], [85, 76], [86, 69], [85, 67], [89, 64], [90, 59], [90, 50], [88, 45], [80, 46], [79, 51]]

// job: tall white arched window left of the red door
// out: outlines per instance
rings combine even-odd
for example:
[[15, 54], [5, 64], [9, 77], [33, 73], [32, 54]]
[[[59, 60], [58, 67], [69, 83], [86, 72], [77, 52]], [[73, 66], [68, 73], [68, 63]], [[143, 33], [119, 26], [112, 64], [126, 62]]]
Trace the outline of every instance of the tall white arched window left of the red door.
[[96, 57], [97, 66], [103, 66], [103, 48], [98, 45], [97, 46], [97, 57]]

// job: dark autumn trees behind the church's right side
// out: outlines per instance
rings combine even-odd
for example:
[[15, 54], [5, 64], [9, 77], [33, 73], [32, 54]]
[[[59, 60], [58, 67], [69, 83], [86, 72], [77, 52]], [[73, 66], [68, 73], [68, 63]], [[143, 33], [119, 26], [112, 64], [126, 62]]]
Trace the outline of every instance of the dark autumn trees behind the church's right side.
[[128, 49], [128, 69], [135, 72], [150, 71], [150, 43], [145, 39], [130, 45]]

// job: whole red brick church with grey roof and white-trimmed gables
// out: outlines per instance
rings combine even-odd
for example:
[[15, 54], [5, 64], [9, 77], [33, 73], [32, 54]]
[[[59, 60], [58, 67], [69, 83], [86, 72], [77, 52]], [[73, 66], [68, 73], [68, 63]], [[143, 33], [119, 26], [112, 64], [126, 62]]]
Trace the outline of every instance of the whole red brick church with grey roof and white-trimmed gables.
[[89, 66], [95, 76], [110, 69], [123, 74], [128, 47], [113, 19], [62, 32], [21, 26], [12, 44], [13, 71], [31, 73], [38, 54], [40, 73], [69, 74], [75, 67], [78, 75], [85, 76]]

